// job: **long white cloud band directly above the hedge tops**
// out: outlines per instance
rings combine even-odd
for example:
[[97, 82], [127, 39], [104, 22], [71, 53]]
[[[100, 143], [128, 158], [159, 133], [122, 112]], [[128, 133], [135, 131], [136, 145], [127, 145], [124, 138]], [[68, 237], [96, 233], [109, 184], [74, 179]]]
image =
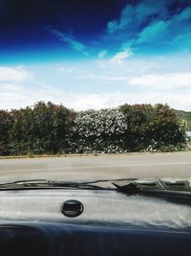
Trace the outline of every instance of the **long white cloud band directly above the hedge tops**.
[[75, 110], [88, 108], [116, 107], [122, 104], [168, 104], [177, 109], [191, 109], [191, 90], [169, 91], [165, 94], [159, 91], [141, 92], [70, 92], [60, 88], [43, 86], [40, 88], [25, 87], [18, 84], [0, 84], [0, 109], [20, 108], [33, 105], [38, 101], [52, 101], [63, 104]]

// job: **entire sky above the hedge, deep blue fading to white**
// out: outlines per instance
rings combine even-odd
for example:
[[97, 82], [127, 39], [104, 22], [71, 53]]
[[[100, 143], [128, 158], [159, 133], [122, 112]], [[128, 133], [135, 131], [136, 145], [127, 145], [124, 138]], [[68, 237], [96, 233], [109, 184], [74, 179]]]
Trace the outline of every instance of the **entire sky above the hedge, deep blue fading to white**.
[[190, 0], [0, 0], [0, 108], [191, 110]]

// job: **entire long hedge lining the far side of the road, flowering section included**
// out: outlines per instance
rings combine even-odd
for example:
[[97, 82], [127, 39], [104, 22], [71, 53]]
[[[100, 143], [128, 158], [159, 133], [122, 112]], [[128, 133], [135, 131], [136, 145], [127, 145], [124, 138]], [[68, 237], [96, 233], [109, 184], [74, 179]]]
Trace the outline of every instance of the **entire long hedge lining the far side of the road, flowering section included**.
[[185, 127], [168, 105], [121, 105], [74, 112], [39, 102], [0, 110], [0, 154], [178, 151]]

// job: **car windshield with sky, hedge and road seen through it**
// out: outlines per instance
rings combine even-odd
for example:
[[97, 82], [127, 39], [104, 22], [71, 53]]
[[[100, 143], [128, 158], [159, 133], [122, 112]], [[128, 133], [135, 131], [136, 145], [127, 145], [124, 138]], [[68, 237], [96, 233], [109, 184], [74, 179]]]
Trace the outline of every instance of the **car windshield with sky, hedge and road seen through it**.
[[190, 67], [189, 0], [1, 0], [0, 189], [189, 191]]

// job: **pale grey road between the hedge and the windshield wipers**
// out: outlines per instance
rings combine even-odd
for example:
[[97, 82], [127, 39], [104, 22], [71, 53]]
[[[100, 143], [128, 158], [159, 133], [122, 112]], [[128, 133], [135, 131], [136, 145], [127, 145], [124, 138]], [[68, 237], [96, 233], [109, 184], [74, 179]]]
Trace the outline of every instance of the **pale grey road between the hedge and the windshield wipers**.
[[0, 182], [123, 177], [191, 177], [191, 152], [0, 160]]

